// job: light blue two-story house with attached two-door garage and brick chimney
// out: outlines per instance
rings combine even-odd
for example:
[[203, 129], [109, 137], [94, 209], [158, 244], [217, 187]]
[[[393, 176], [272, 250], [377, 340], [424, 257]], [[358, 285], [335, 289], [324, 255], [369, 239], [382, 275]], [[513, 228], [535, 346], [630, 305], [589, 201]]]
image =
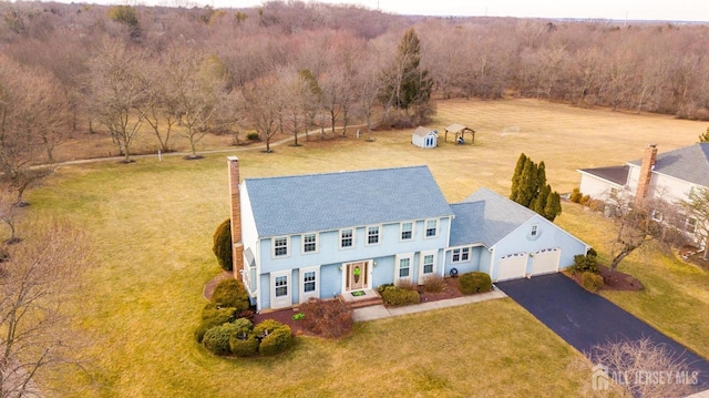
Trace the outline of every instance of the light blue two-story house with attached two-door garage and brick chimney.
[[502, 280], [552, 273], [587, 249], [489, 190], [450, 205], [427, 166], [239, 184], [238, 159], [228, 165], [234, 269], [257, 310], [432, 275], [482, 271]]

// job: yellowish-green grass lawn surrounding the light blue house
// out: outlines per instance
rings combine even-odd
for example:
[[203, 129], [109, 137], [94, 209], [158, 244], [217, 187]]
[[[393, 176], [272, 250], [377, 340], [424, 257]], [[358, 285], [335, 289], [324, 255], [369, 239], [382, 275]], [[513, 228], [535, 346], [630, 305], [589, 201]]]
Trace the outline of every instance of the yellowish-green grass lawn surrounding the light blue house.
[[[650, 142], [660, 151], [691, 144], [706, 130], [702, 123], [667, 116], [527, 100], [446, 101], [438, 108], [432, 127], [467, 124], [477, 131], [476, 145], [442, 144], [425, 151], [410, 144], [410, 132], [378, 132], [374, 142], [356, 140], [350, 133], [323, 142], [314, 136], [301, 147], [280, 145], [273, 154], [256, 149], [229, 154], [239, 156], [243, 177], [427, 164], [443, 194], [454, 202], [481, 186], [506, 194], [521, 152], [544, 161], [549, 182], [564, 192], [578, 184], [578, 167], [640, 157]], [[78, 297], [89, 304], [82, 327], [95, 341], [86, 351], [93, 358], [94, 379], [80, 387], [86, 378], [68, 375], [63, 385], [75, 386], [72, 395], [589, 392], [589, 369], [574, 366], [583, 360], [580, 355], [508, 299], [360, 324], [339, 343], [301, 338], [295, 350], [278, 358], [209, 356], [192, 333], [205, 303], [202, 287], [218, 272], [210, 246], [214, 229], [228, 216], [226, 155], [64, 166], [28, 194], [32, 212], [72, 221], [95, 242], [94, 266], [86, 275], [84, 295]], [[562, 225], [593, 245], [602, 242], [602, 223], [580, 210], [564, 211]], [[692, 326], [709, 309], [702, 285], [680, 288], [685, 277], [696, 275], [681, 266], [666, 266], [660, 257], [645, 259], [651, 267], [636, 268], [654, 269], [648, 277], [639, 275], [647, 293], [610, 298], [650, 317], [662, 297], [674, 295], [675, 307], [651, 322], [674, 337], [707, 346], [709, 330]], [[654, 293], [664, 288], [662, 272], [674, 275], [665, 280], [669, 287]], [[697, 273], [706, 283], [706, 273]], [[693, 308], [685, 312], [688, 319], [680, 319], [688, 326], [672, 329], [672, 310], [684, 305]]]

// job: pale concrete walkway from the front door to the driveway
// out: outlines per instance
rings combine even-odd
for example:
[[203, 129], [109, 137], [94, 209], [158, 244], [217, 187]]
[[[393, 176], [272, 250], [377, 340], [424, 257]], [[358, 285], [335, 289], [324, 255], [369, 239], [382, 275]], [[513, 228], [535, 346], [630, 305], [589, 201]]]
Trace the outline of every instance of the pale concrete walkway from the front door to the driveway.
[[381, 319], [381, 318], [389, 318], [392, 316], [423, 313], [431, 309], [455, 307], [460, 305], [484, 302], [484, 300], [502, 298], [502, 297], [506, 297], [506, 295], [500, 290], [493, 290], [489, 293], [442, 299], [436, 302], [428, 302], [428, 303], [421, 303], [421, 304], [414, 304], [414, 305], [407, 305], [402, 307], [384, 307], [383, 305], [376, 305], [371, 307], [354, 309], [352, 317], [354, 318], [354, 322], [374, 320], [374, 319]]

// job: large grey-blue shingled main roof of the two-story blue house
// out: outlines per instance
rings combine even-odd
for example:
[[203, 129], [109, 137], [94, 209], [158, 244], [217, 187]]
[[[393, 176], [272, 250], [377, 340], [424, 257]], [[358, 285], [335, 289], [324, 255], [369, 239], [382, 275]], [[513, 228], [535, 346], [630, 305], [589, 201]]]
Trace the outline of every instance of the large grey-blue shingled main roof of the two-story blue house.
[[453, 215], [427, 166], [246, 178], [260, 237]]

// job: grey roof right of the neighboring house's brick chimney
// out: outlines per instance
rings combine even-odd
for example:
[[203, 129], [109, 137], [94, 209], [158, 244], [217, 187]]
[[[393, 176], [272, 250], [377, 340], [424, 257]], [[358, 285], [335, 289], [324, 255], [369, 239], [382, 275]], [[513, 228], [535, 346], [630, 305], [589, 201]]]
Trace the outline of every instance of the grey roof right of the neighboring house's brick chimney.
[[[629, 162], [635, 166], [640, 166], [641, 163], [641, 159]], [[653, 172], [709, 186], [709, 143], [702, 142], [658, 153]]]

